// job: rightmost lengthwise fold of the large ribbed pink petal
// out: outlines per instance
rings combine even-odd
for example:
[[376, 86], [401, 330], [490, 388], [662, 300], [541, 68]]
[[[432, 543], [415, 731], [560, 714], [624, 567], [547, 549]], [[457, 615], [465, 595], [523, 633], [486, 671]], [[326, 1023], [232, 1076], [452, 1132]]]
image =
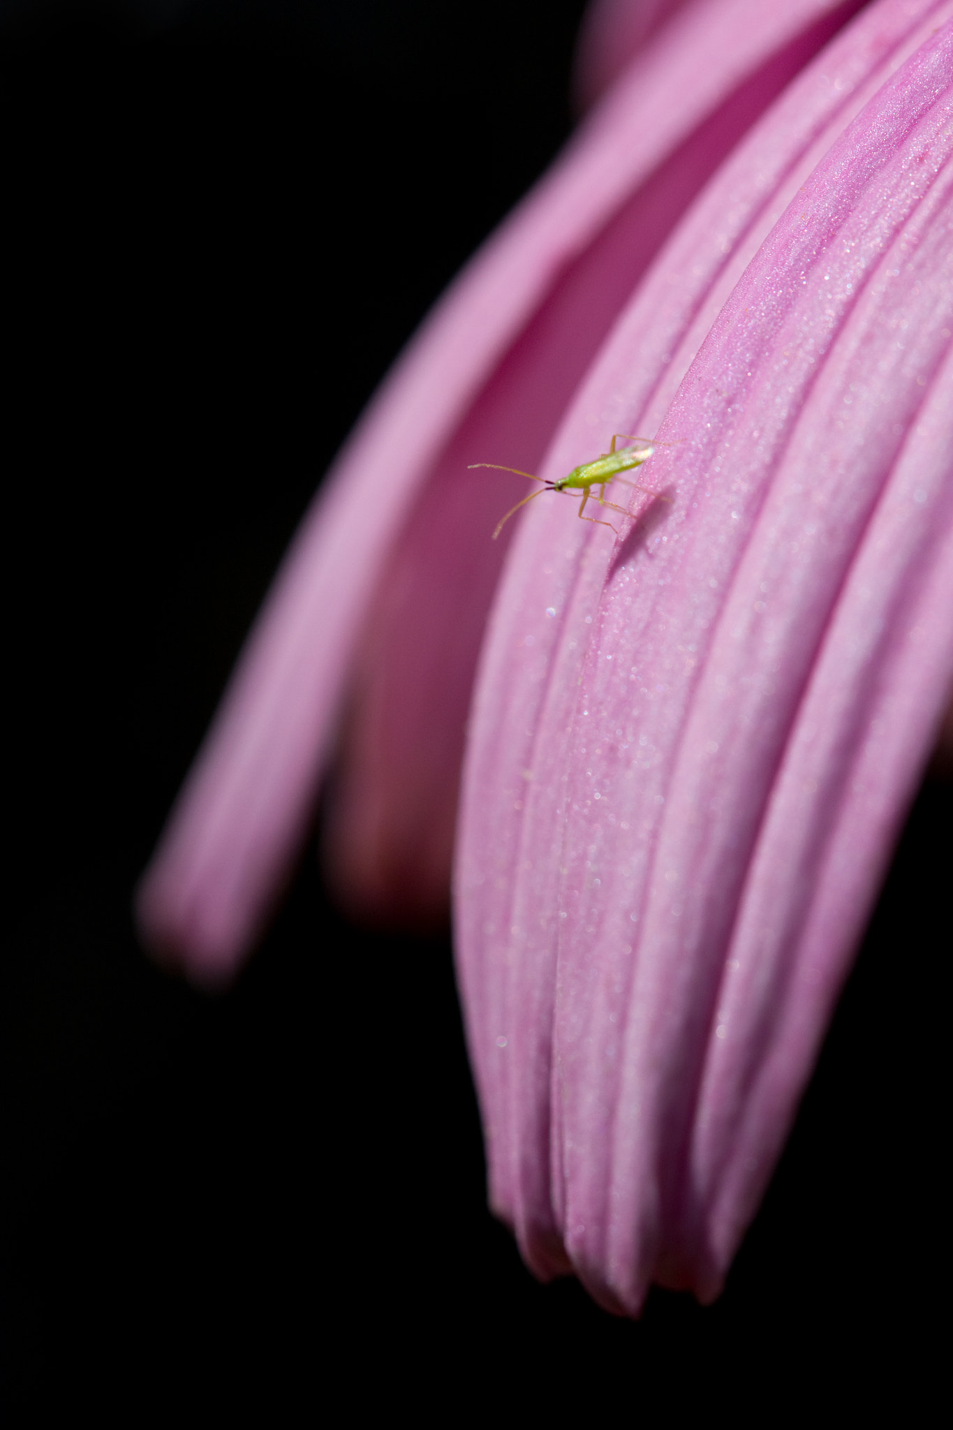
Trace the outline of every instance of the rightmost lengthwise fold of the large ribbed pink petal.
[[[939, 270], [946, 266], [939, 296], [949, 326], [949, 189], [944, 223], [932, 237], [944, 249], [933, 259]], [[927, 280], [937, 296], [934, 283]], [[752, 855], [692, 1140], [709, 1294], [719, 1290], [780, 1153], [949, 699], [952, 428], [947, 353], [839, 592]]]

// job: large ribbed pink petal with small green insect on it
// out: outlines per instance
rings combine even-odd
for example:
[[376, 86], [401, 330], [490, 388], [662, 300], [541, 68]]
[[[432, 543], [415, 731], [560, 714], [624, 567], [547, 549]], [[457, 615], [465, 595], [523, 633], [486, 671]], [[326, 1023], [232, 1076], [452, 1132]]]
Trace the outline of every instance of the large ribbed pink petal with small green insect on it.
[[[492, 1195], [540, 1274], [572, 1266], [613, 1308], [637, 1311], [652, 1278], [717, 1290], [949, 692], [946, 509], [936, 496], [940, 545], [907, 563], [879, 561], [872, 535], [903, 503], [892, 493], [920, 460], [904, 435], [949, 342], [949, 14], [882, 3], [833, 41], [702, 194], [600, 355], [542, 475], [613, 430], [662, 428], [683, 445], [642, 472], [674, 509], [639, 498], [613, 551], [540, 502], [499, 593], [457, 877]], [[949, 463], [939, 412], [929, 440]], [[809, 692], [826, 691], [814, 699], [834, 718], [830, 679], [866, 629], [850, 602], [870, 571], [892, 632], [876, 671], [894, 648], [909, 656], [910, 612], [926, 612], [916, 718], [907, 706], [903, 728], [884, 726], [880, 814], [852, 879], [817, 881], [810, 928], [779, 927], [767, 972], [750, 935], [744, 978], [772, 987], [757, 1004], [726, 984], [736, 1001], [717, 1022], [736, 927], [760, 927], [759, 891], [774, 881], [776, 908], [796, 878], [790, 822], [767, 811], [810, 728]], [[843, 695], [842, 741], [887, 701], [889, 682], [864, 679]], [[829, 811], [846, 849], [847, 807]], [[790, 898], [792, 917], [802, 905]]]

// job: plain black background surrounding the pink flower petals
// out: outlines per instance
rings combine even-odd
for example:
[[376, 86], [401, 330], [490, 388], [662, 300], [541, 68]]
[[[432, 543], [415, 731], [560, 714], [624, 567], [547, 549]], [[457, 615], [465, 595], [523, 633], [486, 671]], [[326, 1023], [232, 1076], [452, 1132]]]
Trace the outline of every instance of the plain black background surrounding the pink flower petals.
[[[640, 1324], [484, 1211], [449, 942], [313, 854], [237, 987], [133, 882], [317, 479], [569, 130], [577, 0], [7, 6], [13, 1423], [910, 1410], [937, 1364], [952, 795], [927, 784], [729, 1290]], [[912, 1399], [913, 1397], [913, 1399]]]

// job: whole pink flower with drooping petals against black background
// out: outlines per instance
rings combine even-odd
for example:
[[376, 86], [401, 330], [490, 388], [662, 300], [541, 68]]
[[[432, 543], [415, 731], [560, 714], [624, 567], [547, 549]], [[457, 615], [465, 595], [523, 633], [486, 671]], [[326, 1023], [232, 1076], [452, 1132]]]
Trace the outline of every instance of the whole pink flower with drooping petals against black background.
[[[227, 977], [347, 691], [339, 885], [427, 917], [469, 709], [492, 1203], [630, 1314], [717, 1294], [953, 678], [953, 0], [670, 10], [351, 439], [140, 895]], [[489, 541], [524, 483], [467, 463], [554, 479], [617, 430], [673, 443], [672, 505]]]

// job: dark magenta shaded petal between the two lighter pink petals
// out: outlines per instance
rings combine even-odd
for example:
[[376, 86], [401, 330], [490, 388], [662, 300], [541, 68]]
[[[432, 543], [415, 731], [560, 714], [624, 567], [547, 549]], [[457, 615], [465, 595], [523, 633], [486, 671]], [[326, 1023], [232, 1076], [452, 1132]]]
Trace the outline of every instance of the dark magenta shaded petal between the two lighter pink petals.
[[[617, 306], [690, 193], [843, 14], [819, 21], [814, 13], [793, 41], [786, 31], [770, 63], [627, 199], [546, 296], [427, 475], [360, 641], [324, 825], [334, 882], [361, 917], [427, 922], [446, 909], [466, 715], [503, 555], [484, 533], [524, 489], [484, 475], [474, 495], [473, 478], [463, 479], [467, 462], [504, 450], [512, 465], [537, 466]], [[706, 34], [696, 33], [699, 19], [683, 34], [693, 63], [712, 39], [710, 19]], [[747, 16], [722, 10], [719, 19], [734, 64]], [[629, 117], [626, 124], [634, 137]]]

